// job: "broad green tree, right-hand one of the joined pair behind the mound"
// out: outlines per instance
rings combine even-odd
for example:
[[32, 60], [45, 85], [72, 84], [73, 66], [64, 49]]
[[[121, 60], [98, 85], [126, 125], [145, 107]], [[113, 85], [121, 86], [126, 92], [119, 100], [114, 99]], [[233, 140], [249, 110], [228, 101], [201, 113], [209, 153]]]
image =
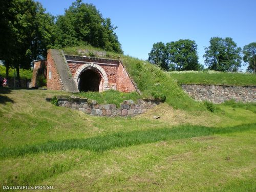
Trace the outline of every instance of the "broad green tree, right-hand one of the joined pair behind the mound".
[[194, 40], [180, 39], [166, 44], [170, 70], [201, 70], [198, 62], [197, 44]]

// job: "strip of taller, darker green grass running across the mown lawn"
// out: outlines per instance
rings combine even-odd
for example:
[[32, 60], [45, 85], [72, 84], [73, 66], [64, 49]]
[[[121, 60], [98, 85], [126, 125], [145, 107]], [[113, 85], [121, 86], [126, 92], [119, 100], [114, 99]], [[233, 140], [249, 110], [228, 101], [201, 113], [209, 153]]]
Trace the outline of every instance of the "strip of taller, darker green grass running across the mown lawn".
[[256, 129], [256, 123], [233, 127], [216, 128], [194, 125], [165, 127], [146, 131], [117, 132], [114, 134], [97, 136], [87, 139], [69, 139], [63, 141], [48, 141], [46, 143], [25, 145], [14, 148], [2, 148], [0, 158], [18, 157], [26, 154], [41, 152], [58, 152], [71, 149], [84, 149], [94, 152], [104, 152], [114, 148], [127, 147], [163, 140], [176, 140], [191, 137], [201, 137], [216, 134], [228, 134]]

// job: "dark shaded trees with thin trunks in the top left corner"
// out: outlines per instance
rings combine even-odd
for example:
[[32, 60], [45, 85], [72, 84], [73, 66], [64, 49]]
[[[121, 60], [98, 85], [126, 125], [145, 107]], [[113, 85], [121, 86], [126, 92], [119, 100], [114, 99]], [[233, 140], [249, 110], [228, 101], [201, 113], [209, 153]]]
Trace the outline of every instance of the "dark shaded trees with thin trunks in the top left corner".
[[[6, 77], [9, 67], [14, 67], [19, 81], [19, 68], [28, 69], [33, 59], [46, 56], [51, 36], [46, 29], [53, 25], [53, 17], [32, 0], [1, 1], [0, 7], [0, 59], [6, 65]], [[51, 22], [43, 22], [46, 18]]]

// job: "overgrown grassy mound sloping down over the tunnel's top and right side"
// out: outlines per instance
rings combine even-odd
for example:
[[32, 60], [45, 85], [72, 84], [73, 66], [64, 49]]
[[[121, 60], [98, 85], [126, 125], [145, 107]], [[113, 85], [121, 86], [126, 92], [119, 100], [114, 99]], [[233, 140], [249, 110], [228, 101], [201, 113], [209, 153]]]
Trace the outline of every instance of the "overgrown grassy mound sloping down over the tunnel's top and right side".
[[[90, 56], [90, 50], [93, 51], [92, 47], [65, 48], [63, 51], [65, 54], [82, 55], [78, 50], [85, 49], [89, 50], [89, 53], [85, 55]], [[97, 57], [97, 55], [95, 55], [95, 57]], [[174, 108], [184, 110], [205, 109], [201, 103], [194, 101], [185, 94], [178, 86], [176, 80], [163, 72], [160, 68], [153, 66], [150, 62], [111, 52], [106, 52], [105, 58], [121, 59], [126, 70], [142, 92], [142, 97], [164, 98], [163, 100], [166, 100], [166, 103], [172, 105]]]

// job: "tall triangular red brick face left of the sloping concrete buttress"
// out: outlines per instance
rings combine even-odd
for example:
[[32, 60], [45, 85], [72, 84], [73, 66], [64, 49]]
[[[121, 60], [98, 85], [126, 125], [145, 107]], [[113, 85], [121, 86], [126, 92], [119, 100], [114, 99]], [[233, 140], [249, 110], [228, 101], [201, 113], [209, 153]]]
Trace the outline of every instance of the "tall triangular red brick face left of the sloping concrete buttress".
[[[50, 78], [51, 74], [51, 78]], [[51, 55], [51, 50], [47, 54], [47, 89], [49, 90], [64, 90], [62, 81], [58, 74], [56, 65]]]

